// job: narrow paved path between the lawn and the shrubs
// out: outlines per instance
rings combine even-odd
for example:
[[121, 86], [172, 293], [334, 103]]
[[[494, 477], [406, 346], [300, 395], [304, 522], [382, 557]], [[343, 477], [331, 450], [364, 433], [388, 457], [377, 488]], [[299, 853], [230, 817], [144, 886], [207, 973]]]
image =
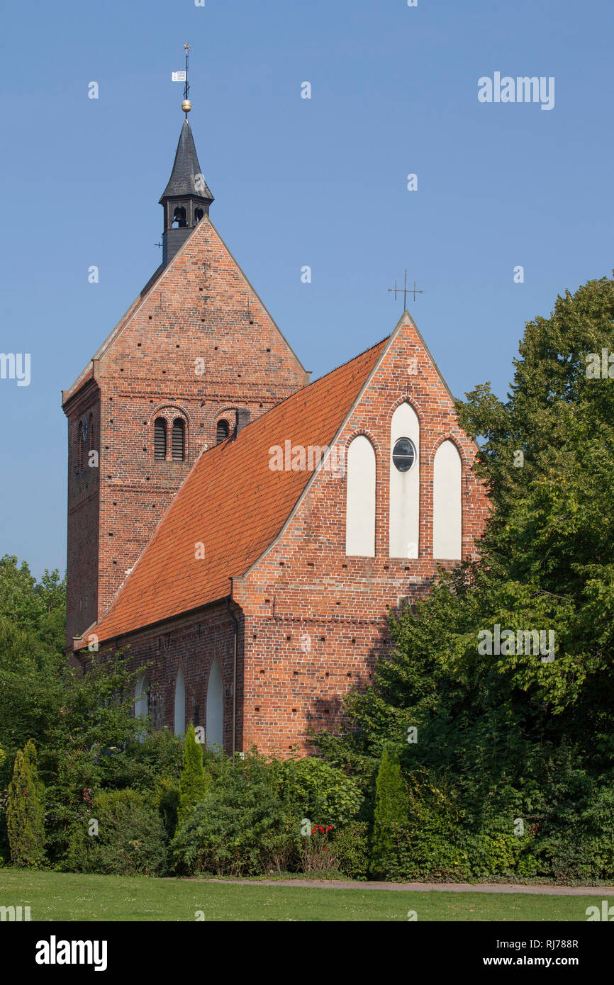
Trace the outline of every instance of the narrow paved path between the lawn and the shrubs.
[[320, 889], [387, 889], [390, 892], [523, 892], [549, 896], [614, 895], [614, 886], [514, 886], [512, 883], [349, 883], [314, 879], [198, 879], [232, 886], [315, 886]]

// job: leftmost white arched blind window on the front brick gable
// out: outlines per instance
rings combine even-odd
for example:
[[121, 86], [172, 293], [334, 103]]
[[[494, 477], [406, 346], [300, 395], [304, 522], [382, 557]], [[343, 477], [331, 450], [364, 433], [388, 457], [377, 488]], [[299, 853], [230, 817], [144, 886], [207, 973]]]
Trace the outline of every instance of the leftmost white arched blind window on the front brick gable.
[[345, 553], [375, 558], [375, 448], [359, 434], [347, 455]]

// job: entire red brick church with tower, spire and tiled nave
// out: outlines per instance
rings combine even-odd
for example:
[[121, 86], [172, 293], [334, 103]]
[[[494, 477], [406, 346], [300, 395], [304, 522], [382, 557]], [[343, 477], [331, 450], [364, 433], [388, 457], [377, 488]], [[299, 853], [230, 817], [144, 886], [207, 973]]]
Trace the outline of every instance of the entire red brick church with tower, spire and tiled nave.
[[67, 648], [143, 667], [155, 728], [307, 753], [372, 680], [389, 612], [474, 555], [488, 501], [409, 312], [310, 382], [213, 200], [186, 111], [162, 264], [62, 394]]

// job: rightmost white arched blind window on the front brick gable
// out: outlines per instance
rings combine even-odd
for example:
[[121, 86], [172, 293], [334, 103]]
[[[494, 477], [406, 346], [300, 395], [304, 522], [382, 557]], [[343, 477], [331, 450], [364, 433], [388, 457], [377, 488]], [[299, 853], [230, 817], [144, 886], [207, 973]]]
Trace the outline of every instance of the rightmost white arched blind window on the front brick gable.
[[462, 556], [462, 465], [458, 449], [447, 440], [433, 463], [433, 557]]

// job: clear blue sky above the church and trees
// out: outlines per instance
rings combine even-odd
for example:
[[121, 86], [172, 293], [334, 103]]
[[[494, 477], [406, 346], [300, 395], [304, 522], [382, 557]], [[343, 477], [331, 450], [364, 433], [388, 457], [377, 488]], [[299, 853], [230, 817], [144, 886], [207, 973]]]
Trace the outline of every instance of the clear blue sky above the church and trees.
[[[211, 218], [312, 378], [389, 334], [407, 268], [452, 392], [505, 397], [524, 322], [614, 266], [612, 26], [606, 0], [6, 5], [0, 352], [32, 379], [0, 379], [0, 556], [64, 570], [60, 390], [160, 261], [184, 41]], [[554, 108], [479, 102], [497, 71], [554, 77]]]

